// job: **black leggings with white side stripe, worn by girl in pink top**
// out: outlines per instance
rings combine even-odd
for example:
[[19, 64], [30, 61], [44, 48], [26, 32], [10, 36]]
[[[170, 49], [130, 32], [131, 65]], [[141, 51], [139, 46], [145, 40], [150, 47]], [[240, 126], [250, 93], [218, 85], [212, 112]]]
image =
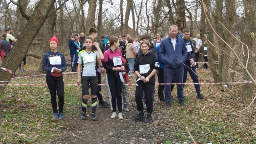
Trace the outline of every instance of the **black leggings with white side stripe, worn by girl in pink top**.
[[[116, 101], [118, 112], [121, 113], [123, 110], [123, 82], [120, 79], [119, 74], [117, 76], [106, 74], [106, 82], [110, 93], [110, 106], [112, 112], [116, 112]], [[142, 95], [141, 95], [142, 96]], [[142, 97], [141, 97], [142, 100]]]

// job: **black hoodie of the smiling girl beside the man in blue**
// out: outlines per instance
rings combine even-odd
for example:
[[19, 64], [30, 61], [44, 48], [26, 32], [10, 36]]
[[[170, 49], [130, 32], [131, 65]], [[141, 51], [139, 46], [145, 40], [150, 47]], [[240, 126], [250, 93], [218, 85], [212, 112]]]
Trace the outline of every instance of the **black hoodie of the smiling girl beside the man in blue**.
[[[152, 72], [153, 69], [158, 70], [158, 63], [157, 63], [157, 58], [156, 55], [153, 54], [152, 52], [148, 52], [146, 55], [139, 54], [137, 56], [137, 58], [135, 59], [135, 63], [134, 63], [134, 72], [138, 71], [140, 73], [140, 65], [146, 65], [149, 64], [150, 69], [148, 70], [148, 73], [146, 74], [140, 74], [141, 76], [144, 76], [145, 78], [150, 75], [150, 73]], [[139, 77], [137, 76], [136, 80]], [[155, 79], [155, 75], [153, 75], [152, 77], [150, 77], [149, 79], [149, 84], [155, 84], [156, 79]]]

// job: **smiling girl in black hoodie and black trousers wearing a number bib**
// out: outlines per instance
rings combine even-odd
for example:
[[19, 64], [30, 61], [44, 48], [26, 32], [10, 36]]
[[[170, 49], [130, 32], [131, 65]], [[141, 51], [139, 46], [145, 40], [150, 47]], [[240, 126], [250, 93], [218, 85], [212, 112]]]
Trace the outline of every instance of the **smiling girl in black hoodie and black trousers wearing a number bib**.
[[148, 52], [149, 46], [150, 44], [148, 41], [142, 41], [140, 43], [140, 49], [142, 53], [137, 56], [134, 64], [134, 72], [137, 75], [135, 100], [139, 113], [138, 116], [133, 118], [133, 121], [141, 121], [145, 118], [142, 102], [144, 91], [147, 105], [147, 118], [145, 123], [151, 123], [153, 121], [151, 116], [153, 112], [152, 93], [155, 84], [155, 73], [159, 67], [156, 55], [154, 53]]

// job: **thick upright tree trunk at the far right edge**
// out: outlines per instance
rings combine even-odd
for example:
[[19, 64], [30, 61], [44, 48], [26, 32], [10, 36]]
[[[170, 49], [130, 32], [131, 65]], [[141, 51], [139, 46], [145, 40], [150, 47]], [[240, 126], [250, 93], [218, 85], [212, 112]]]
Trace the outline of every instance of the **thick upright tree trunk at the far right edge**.
[[[245, 20], [244, 20], [244, 31], [242, 33], [241, 36], [241, 41], [246, 44], [249, 48], [249, 62], [253, 62], [255, 59], [252, 57], [253, 53], [255, 53], [255, 49], [256, 49], [256, 41], [252, 39], [251, 37], [251, 33], [253, 30], [256, 29], [255, 26], [255, 1], [251, 1], [251, 0], [244, 0], [244, 12], [245, 12]], [[247, 61], [247, 56], [248, 56], [248, 51], [244, 46], [244, 54], [245, 56], [243, 57], [243, 61], [244, 61], [244, 65], [245, 65], [245, 61]], [[248, 64], [248, 71], [250, 72], [250, 74], [253, 76], [254, 73], [254, 65], [253, 64]], [[244, 80], [249, 80], [250, 77], [248, 76], [248, 74], [244, 71]], [[251, 101], [254, 97], [253, 95], [253, 84], [244, 84], [242, 86], [241, 89], [242, 95], [244, 97], [244, 100], [246, 101]]]

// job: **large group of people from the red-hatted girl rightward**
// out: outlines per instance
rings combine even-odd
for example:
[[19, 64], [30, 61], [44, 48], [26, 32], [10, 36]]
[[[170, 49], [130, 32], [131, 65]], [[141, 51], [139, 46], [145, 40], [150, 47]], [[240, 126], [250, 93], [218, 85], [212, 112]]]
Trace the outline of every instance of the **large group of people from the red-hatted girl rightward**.
[[[106, 35], [101, 37], [100, 44], [96, 42], [99, 33], [96, 28], [90, 28], [89, 35], [86, 37], [84, 33], [80, 33], [77, 38], [71, 36], [68, 42], [71, 69], [72, 71], [77, 70], [76, 82], [78, 85], [81, 84], [82, 87], [82, 115], [80, 118], [82, 120], [87, 119], [86, 109], [89, 106], [89, 88], [91, 88], [91, 118], [93, 121], [97, 120], [97, 98], [99, 107], [111, 107], [112, 115], [110, 118], [117, 116], [119, 119], [123, 119], [123, 110], [129, 111], [127, 89], [124, 84], [129, 81], [128, 77], [137, 76], [135, 101], [138, 115], [133, 118], [133, 121], [144, 120], [143, 111], [146, 109], [145, 123], [151, 123], [153, 121], [156, 73], [158, 83], [186, 83], [187, 72], [189, 72], [194, 83], [199, 83], [195, 68], [197, 42], [193, 43], [190, 40], [190, 30], [188, 28], [183, 29], [182, 37], [178, 37], [178, 32], [179, 28], [176, 25], [171, 25], [169, 33], [166, 33], [166, 37], [163, 39], [161, 39], [159, 33], [155, 40], [152, 35], [150, 37], [148, 34], [144, 34], [141, 36], [140, 42], [138, 42], [137, 37], [132, 39], [130, 35], [127, 35], [127, 40], [126, 36], [111, 36], [108, 39]], [[44, 54], [42, 69], [47, 71], [46, 82], [51, 93], [53, 118], [63, 119], [64, 83], [62, 72], [66, 70], [67, 65], [64, 55], [57, 51], [58, 38], [52, 37], [49, 44], [51, 51]], [[200, 47], [197, 50], [199, 49]], [[204, 50], [207, 51], [207, 39], [204, 40]], [[207, 56], [207, 52], [204, 54]], [[74, 68], [75, 65], [76, 69]], [[100, 86], [98, 86], [101, 83], [100, 75], [105, 71], [104, 68], [106, 69], [110, 104], [103, 100]], [[171, 106], [173, 86], [159, 85], [158, 87], [158, 98], [165, 102], [166, 108]], [[184, 86], [177, 84], [177, 97], [182, 107], [187, 106], [184, 103], [184, 100], [186, 100], [183, 94]], [[206, 98], [200, 92], [199, 84], [195, 84], [195, 89], [197, 98], [205, 100]], [[59, 113], [56, 106], [56, 91], [59, 98]], [[143, 101], [145, 106], [143, 106]]]

